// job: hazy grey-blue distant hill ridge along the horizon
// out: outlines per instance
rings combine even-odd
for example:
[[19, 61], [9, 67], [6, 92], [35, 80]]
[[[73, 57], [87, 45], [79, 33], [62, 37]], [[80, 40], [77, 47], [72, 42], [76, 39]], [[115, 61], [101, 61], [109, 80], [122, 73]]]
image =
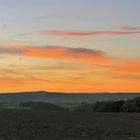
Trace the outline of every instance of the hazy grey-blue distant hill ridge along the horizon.
[[48, 102], [62, 106], [75, 106], [81, 102], [94, 103], [96, 101], [127, 100], [140, 97], [140, 93], [61, 93], [61, 92], [18, 92], [1, 93], [0, 102], [20, 103], [28, 101]]

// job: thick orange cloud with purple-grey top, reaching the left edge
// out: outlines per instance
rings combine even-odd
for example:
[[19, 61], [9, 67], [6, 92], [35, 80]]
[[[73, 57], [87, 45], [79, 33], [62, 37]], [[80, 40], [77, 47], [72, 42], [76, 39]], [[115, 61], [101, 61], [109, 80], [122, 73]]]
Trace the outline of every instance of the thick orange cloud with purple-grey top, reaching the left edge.
[[86, 48], [70, 48], [61, 46], [14, 46], [0, 47], [1, 54], [16, 54], [56, 60], [86, 62], [95, 64], [110, 63], [111, 59], [101, 50]]

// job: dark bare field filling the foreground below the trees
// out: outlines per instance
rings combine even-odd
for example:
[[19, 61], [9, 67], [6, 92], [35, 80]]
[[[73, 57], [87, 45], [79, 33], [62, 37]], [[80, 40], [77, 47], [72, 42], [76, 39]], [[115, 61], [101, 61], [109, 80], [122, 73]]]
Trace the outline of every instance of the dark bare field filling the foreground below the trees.
[[0, 140], [140, 140], [140, 113], [0, 111]]

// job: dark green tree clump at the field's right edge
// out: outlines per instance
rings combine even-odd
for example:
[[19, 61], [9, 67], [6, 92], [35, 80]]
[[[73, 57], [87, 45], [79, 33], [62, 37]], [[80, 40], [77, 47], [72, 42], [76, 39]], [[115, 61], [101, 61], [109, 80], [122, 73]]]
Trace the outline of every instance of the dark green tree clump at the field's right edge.
[[94, 104], [81, 103], [74, 109], [78, 112], [140, 112], [140, 97], [126, 101], [100, 101]]

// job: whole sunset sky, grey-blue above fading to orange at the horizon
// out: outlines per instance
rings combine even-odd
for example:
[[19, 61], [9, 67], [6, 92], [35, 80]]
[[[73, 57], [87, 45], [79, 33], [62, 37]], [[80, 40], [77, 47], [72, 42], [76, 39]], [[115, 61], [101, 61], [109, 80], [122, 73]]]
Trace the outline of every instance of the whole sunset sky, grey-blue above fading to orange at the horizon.
[[139, 0], [0, 0], [0, 92], [140, 92]]

